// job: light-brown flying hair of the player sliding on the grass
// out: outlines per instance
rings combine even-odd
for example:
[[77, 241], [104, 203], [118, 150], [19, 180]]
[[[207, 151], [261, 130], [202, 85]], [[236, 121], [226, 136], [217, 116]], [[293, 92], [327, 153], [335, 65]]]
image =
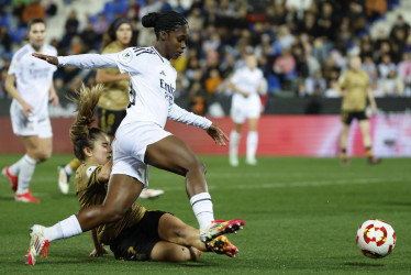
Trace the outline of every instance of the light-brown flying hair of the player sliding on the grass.
[[102, 84], [98, 84], [89, 89], [85, 84], [82, 84], [79, 91], [76, 90], [74, 96], [67, 97], [68, 100], [78, 105], [77, 118], [70, 127], [69, 134], [74, 153], [80, 161], [86, 160], [84, 148], [93, 148], [95, 142], [99, 135], [104, 133], [101, 129], [91, 127], [95, 121], [95, 108], [99, 101], [101, 92], [103, 91], [103, 87]]

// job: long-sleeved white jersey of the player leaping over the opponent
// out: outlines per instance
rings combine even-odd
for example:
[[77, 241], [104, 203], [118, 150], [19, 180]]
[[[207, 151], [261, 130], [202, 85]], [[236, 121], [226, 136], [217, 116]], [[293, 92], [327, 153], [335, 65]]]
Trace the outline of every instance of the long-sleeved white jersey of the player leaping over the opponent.
[[130, 75], [130, 103], [122, 125], [154, 122], [164, 128], [167, 119], [204, 130], [211, 121], [174, 103], [177, 72], [154, 47], [129, 47], [115, 54], [59, 56], [58, 64], [80, 68], [118, 68]]

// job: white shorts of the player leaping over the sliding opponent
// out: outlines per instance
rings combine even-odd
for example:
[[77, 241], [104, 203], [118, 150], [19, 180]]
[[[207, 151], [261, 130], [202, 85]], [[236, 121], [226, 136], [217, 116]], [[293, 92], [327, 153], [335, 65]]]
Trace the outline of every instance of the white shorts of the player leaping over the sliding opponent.
[[171, 135], [153, 122], [135, 121], [122, 124], [115, 132], [112, 143], [113, 167], [111, 174], [122, 174], [136, 178], [148, 187], [149, 165], [144, 163], [145, 151], [149, 144]]

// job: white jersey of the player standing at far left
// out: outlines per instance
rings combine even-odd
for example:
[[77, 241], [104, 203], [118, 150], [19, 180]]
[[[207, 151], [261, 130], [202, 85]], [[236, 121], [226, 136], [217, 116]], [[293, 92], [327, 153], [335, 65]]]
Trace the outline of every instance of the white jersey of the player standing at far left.
[[[32, 53], [35, 51], [30, 44], [20, 48], [11, 59], [8, 74], [15, 76], [19, 95], [33, 107], [31, 118], [42, 120], [48, 117], [49, 88], [57, 68], [32, 56]], [[57, 51], [45, 44], [42, 54], [57, 56]], [[13, 101], [15, 107], [22, 110], [21, 105], [15, 99]]]

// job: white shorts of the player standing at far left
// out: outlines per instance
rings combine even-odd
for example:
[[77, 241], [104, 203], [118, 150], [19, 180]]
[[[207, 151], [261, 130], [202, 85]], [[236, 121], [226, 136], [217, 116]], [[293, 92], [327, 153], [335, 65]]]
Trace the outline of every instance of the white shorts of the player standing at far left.
[[43, 119], [37, 119], [35, 117], [26, 118], [14, 100], [10, 106], [10, 118], [15, 135], [37, 135], [40, 139], [53, 136], [52, 123], [48, 117]]

